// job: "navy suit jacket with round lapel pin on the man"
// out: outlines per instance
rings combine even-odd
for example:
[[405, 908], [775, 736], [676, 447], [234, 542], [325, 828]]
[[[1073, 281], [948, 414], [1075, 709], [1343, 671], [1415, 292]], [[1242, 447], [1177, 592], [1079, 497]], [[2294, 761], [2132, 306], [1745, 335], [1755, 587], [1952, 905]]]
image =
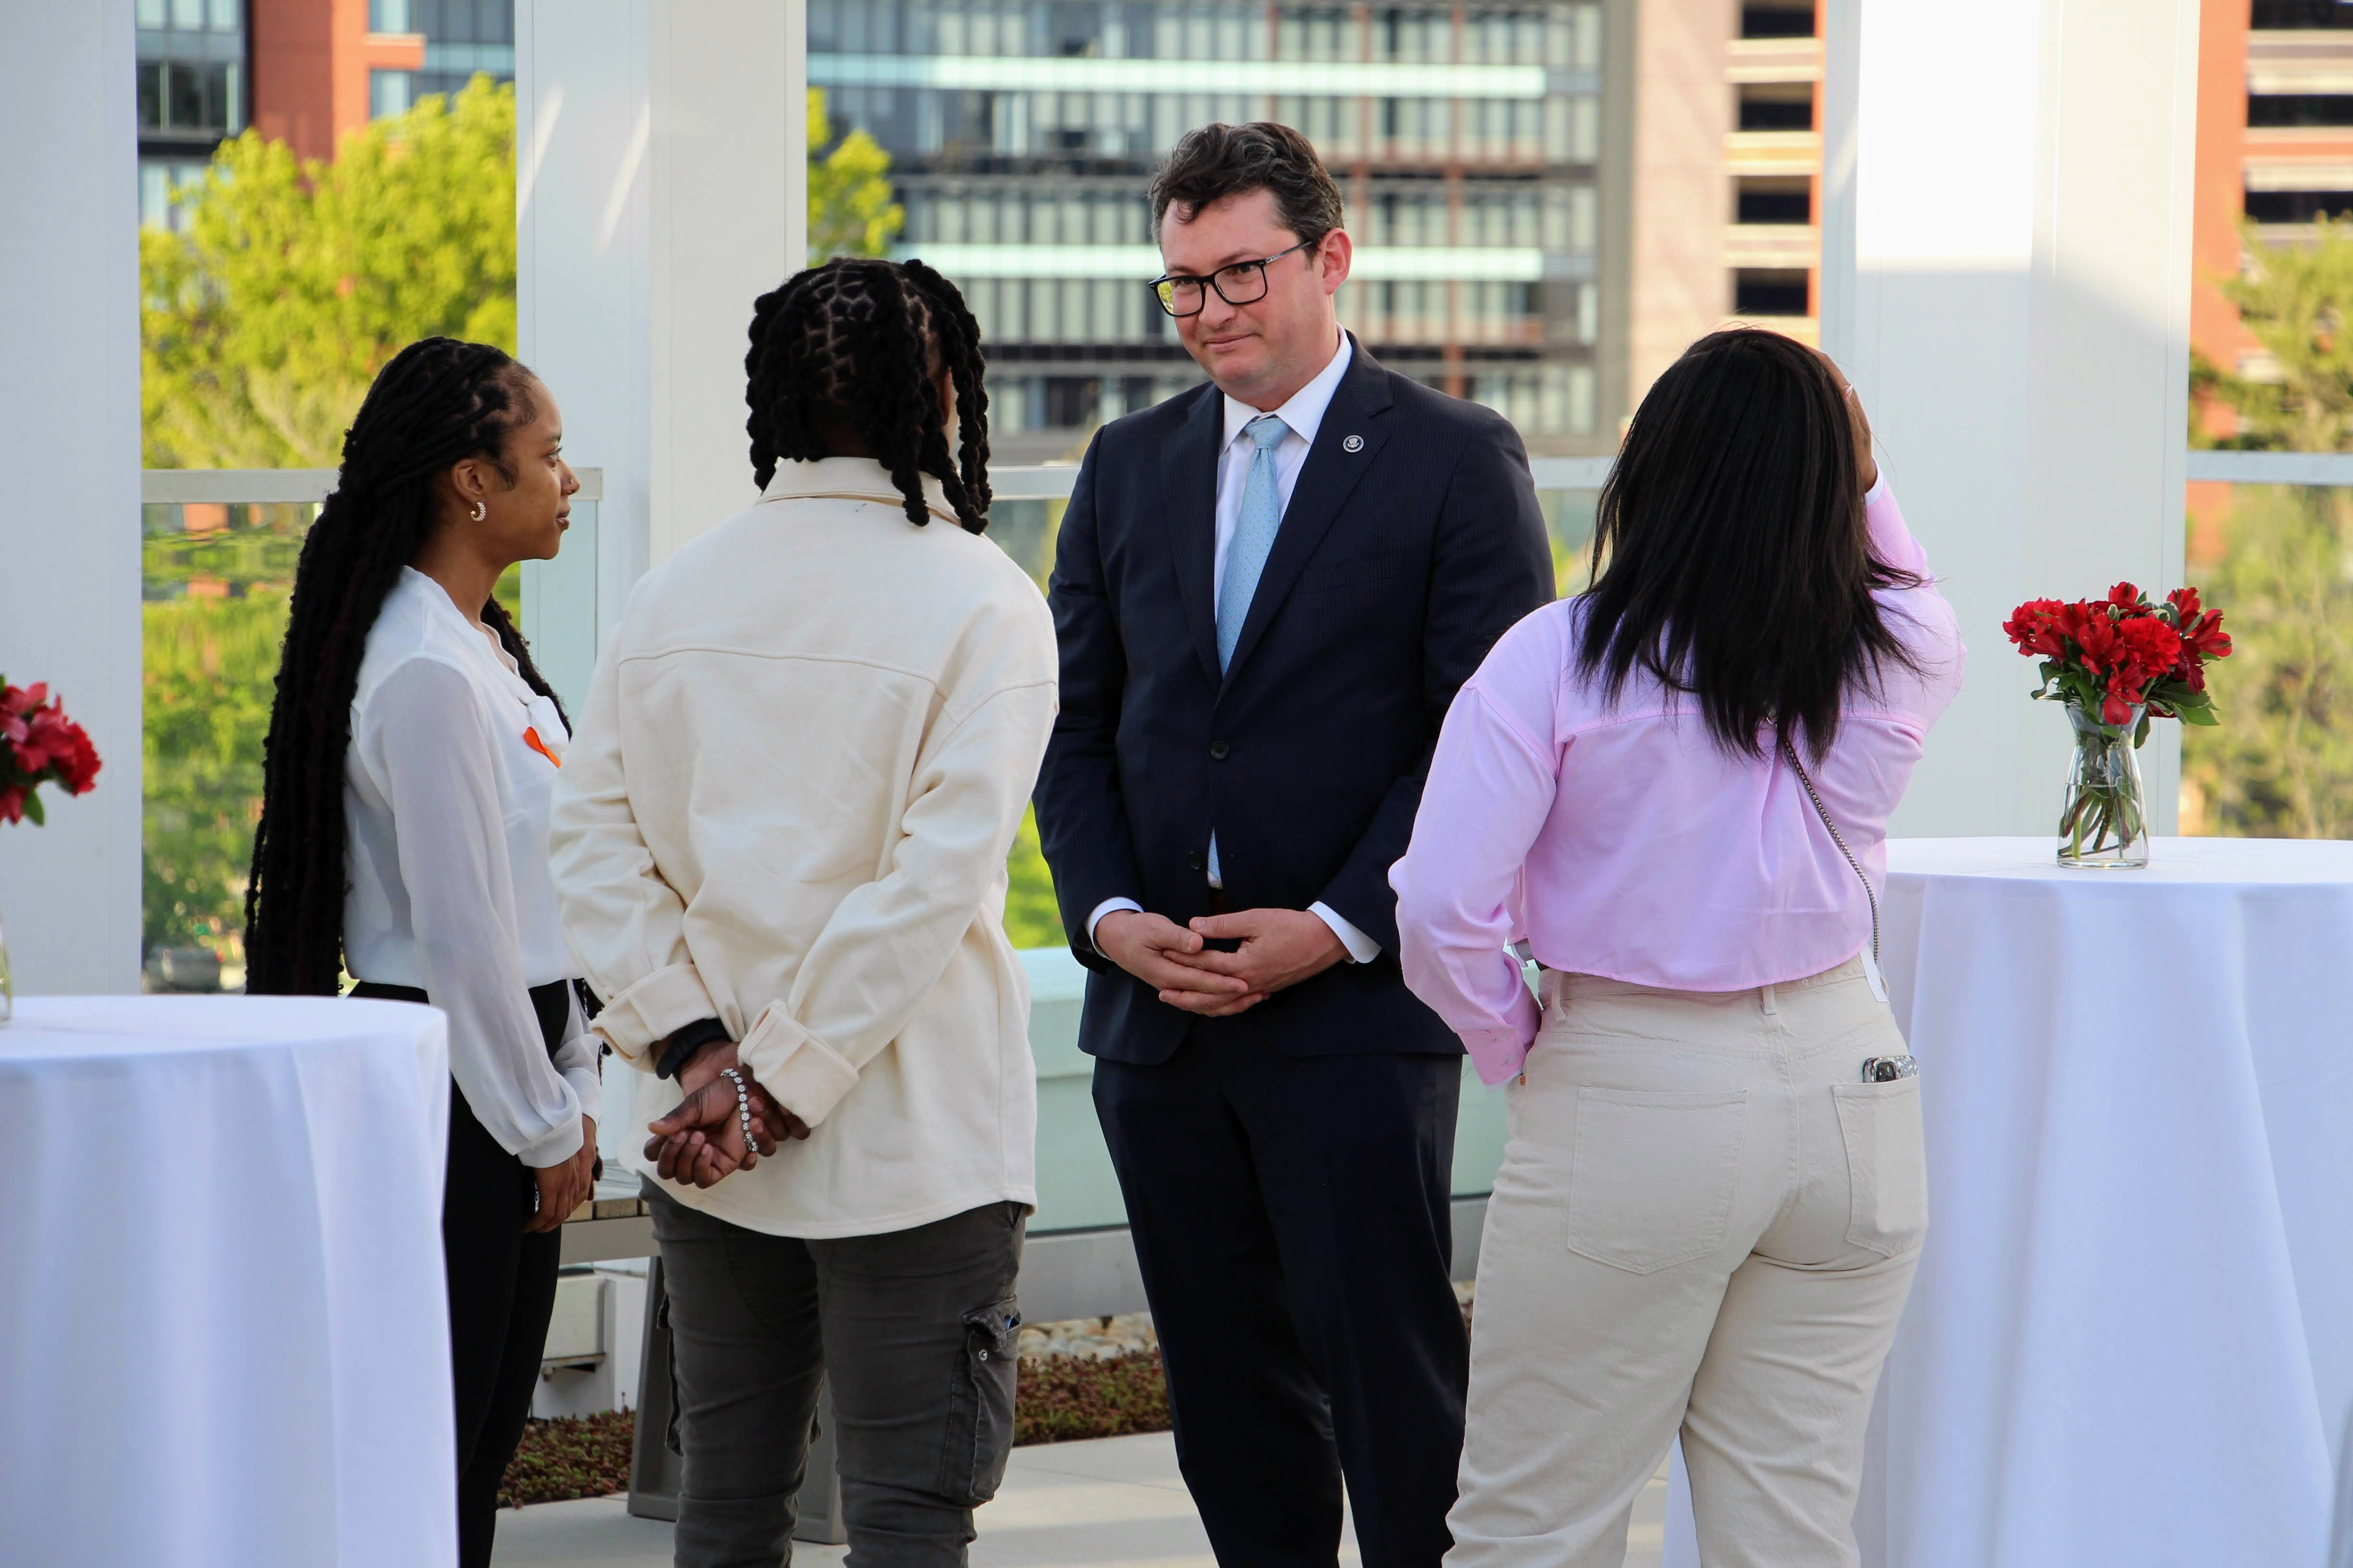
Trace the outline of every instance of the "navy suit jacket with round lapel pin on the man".
[[[1457, 1053], [1405, 990], [1388, 867], [1405, 853], [1454, 689], [1553, 597], [1553, 552], [1504, 416], [1355, 346], [1315, 430], [1240, 642], [1217, 668], [1217, 456], [1200, 386], [1104, 425], [1061, 522], [1049, 602], [1061, 715], [1038, 832], [1092, 976], [1080, 1046], [1162, 1063], [1193, 1027], [1292, 1056]], [[1087, 938], [1106, 898], [1209, 912], [1327, 903], [1381, 943], [1235, 1018], [1195, 1018]]]

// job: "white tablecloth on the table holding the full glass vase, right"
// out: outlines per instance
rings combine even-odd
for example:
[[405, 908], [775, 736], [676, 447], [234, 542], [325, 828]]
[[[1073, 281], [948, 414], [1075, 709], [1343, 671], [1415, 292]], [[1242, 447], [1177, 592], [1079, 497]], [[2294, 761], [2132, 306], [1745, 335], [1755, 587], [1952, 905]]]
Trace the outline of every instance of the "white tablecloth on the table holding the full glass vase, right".
[[1897, 842], [1885, 954], [1932, 1220], [1864, 1563], [2353, 1563], [2353, 844]]

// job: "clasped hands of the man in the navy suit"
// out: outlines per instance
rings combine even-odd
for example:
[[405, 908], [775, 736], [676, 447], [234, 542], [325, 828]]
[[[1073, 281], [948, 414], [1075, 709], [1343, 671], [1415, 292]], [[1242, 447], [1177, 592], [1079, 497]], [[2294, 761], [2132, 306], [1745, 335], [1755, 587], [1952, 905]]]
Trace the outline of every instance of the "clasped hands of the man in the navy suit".
[[[1217, 952], [1214, 940], [1240, 947]], [[1348, 957], [1311, 910], [1238, 910], [1205, 914], [1191, 926], [1144, 910], [1113, 910], [1094, 924], [1094, 947], [1169, 1006], [1202, 1018], [1247, 1013]]]

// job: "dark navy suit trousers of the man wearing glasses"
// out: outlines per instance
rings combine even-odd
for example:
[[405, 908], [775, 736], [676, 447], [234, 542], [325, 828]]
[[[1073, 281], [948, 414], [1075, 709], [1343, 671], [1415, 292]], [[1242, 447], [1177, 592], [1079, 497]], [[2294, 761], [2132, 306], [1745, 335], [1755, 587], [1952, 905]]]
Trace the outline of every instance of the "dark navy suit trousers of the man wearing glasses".
[[1471, 1342], [1447, 1279], [1461, 1058], [1273, 1056], [1195, 1025], [1094, 1110], [1221, 1568], [1435, 1568]]

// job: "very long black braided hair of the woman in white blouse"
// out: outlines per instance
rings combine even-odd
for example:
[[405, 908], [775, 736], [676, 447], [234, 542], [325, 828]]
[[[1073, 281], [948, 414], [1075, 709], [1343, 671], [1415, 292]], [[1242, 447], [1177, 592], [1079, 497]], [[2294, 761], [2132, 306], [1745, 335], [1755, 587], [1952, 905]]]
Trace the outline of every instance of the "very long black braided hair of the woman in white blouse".
[[[461, 458], [508, 480], [532, 371], [487, 343], [424, 339], [376, 371], [344, 435], [334, 494], [304, 538], [261, 764], [261, 823], [245, 889], [245, 990], [332, 997], [344, 966], [344, 762], [351, 698], [384, 597], [433, 534], [433, 482]], [[532, 691], [553, 698], [522, 632], [492, 599], [482, 621]]]

